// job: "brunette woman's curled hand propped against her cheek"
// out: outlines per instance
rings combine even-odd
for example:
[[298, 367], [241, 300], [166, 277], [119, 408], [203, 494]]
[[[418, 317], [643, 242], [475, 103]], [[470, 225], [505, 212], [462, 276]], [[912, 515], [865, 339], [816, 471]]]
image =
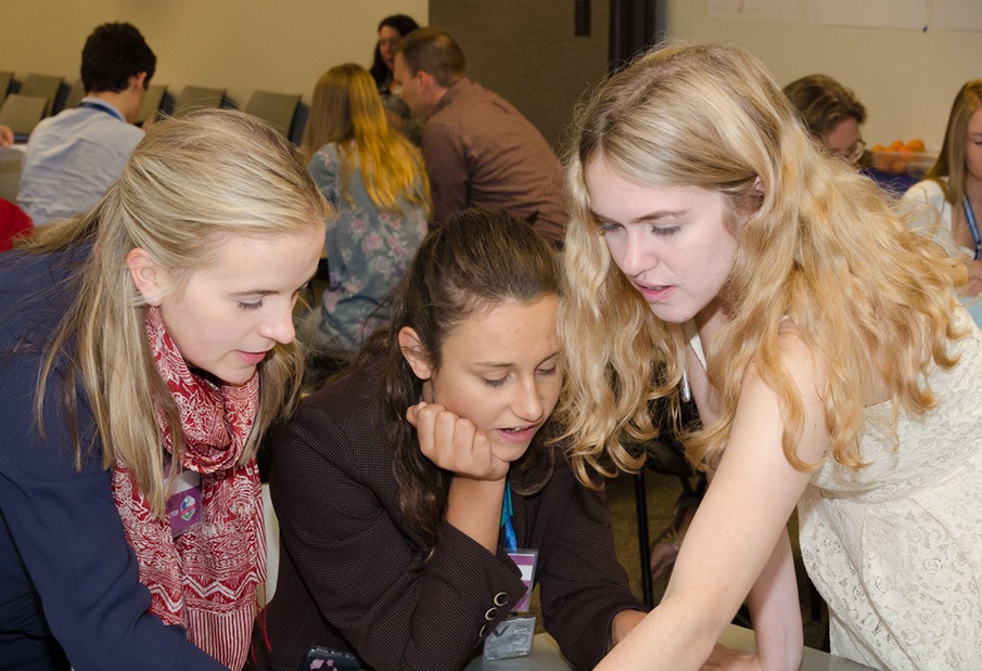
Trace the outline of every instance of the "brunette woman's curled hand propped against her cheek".
[[431, 462], [458, 477], [502, 480], [510, 464], [492, 452], [487, 434], [474, 423], [439, 403], [410, 405], [406, 418], [416, 427], [420, 451]]

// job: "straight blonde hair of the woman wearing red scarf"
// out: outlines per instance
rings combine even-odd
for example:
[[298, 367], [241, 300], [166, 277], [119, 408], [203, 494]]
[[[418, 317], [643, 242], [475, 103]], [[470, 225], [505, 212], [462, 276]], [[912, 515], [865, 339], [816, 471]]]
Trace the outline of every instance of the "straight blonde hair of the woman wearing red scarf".
[[[177, 278], [181, 291], [215, 260], [230, 235], [299, 235], [323, 230], [331, 208], [295, 147], [265, 121], [231, 111], [205, 111], [155, 124], [137, 145], [119, 181], [88, 214], [35, 229], [26, 249], [53, 251], [91, 245], [67, 314], [52, 335], [37, 390], [42, 422], [49, 377], [59, 388], [75, 442], [76, 465], [98, 438], [103, 466], [122, 460], [132, 470], [153, 511], [163, 515], [162, 408], [180, 463], [186, 440], [180, 413], [153, 362], [143, 326], [146, 305], [126, 257], [142, 247]], [[277, 344], [258, 365], [259, 412], [242, 454], [255, 455], [269, 425], [291, 407], [299, 387], [303, 356], [295, 344]], [[80, 386], [85, 399], [76, 391]], [[82, 436], [78, 404], [91, 408], [98, 436]], [[43, 425], [41, 426], [43, 429]], [[176, 472], [176, 469], [175, 469]]]

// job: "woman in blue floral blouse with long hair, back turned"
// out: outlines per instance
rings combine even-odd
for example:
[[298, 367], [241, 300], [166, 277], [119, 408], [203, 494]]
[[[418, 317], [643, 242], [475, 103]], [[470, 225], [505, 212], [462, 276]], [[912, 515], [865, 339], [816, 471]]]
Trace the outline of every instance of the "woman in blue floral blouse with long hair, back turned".
[[339, 217], [328, 230], [330, 284], [304, 333], [315, 350], [355, 351], [384, 319], [375, 309], [426, 234], [430, 183], [422, 156], [393, 130], [360, 65], [321, 76], [305, 133], [310, 173]]

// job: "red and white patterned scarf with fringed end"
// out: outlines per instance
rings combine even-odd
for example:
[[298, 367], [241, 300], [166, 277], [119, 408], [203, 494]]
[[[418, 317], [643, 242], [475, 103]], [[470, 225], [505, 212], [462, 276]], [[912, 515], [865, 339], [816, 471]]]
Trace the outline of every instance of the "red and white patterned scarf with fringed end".
[[[259, 407], [259, 378], [219, 386], [192, 374], [158, 309], [145, 308], [144, 314], [154, 361], [180, 409], [188, 446], [181, 465], [201, 474], [202, 521], [174, 538], [118, 461], [113, 496], [139, 560], [140, 582], [150, 590], [150, 611], [165, 624], [181, 624], [192, 643], [238, 670], [248, 651], [256, 589], [266, 580], [259, 472], [256, 460], [238, 465]], [[170, 452], [160, 408], [157, 418]]]

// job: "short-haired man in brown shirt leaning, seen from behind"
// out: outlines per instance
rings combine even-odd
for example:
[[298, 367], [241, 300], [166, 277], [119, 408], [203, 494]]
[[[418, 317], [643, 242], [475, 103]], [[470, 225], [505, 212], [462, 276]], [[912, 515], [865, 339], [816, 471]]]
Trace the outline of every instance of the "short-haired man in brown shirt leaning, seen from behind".
[[557, 246], [566, 229], [563, 171], [543, 134], [503, 98], [467, 77], [449, 35], [418, 28], [396, 48], [393, 80], [425, 120], [421, 149], [438, 224], [468, 207], [535, 220]]

